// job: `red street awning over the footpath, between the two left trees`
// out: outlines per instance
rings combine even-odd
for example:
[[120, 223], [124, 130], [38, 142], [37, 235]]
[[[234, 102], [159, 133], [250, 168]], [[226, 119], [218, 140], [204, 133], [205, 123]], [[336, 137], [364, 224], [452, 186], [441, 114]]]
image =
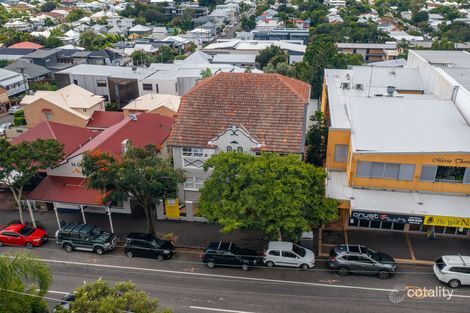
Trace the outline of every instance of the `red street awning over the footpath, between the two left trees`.
[[102, 205], [100, 193], [86, 188], [86, 179], [47, 176], [27, 196], [30, 200]]

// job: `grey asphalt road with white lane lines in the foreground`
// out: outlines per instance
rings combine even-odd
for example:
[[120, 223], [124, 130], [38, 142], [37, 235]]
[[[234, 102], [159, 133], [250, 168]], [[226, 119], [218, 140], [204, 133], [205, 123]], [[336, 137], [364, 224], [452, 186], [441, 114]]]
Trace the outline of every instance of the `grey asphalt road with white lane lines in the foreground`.
[[[24, 251], [2, 247], [0, 253]], [[296, 312], [469, 312], [470, 288], [454, 291], [450, 299], [409, 298], [394, 303], [397, 286], [446, 288], [430, 267], [400, 266], [388, 280], [351, 275], [339, 277], [317, 261], [315, 269], [288, 268], [208, 269], [198, 252], [178, 251], [172, 260], [129, 259], [118, 248], [98, 256], [87, 252], [66, 253], [53, 242], [30, 251], [50, 266], [54, 282], [48, 297], [60, 299], [83, 282], [105, 279], [131, 280], [157, 297], [164, 307], [184, 313], [296, 313]], [[449, 290], [449, 289], [447, 289]], [[50, 301], [51, 306], [55, 301]]]

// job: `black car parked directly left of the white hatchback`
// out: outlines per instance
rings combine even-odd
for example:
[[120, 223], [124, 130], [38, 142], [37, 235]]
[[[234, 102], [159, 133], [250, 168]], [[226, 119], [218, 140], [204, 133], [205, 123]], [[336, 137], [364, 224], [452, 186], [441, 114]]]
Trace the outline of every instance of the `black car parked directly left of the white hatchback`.
[[233, 242], [211, 242], [201, 255], [208, 268], [215, 266], [241, 267], [247, 271], [258, 263], [256, 251], [238, 247]]

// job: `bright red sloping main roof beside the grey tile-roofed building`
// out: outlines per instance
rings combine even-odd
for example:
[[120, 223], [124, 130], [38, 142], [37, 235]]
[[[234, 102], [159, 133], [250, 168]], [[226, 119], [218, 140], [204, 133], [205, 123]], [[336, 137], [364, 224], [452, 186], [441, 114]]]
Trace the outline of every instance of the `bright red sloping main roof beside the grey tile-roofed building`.
[[174, 119], [160, 114], [136, 113], [137, 120], [125, 118], [101, 133], [73, 153], [73, 156], [99, 150], [115, 156], [121, 155], [121, 144], [125, 139], [134, 147], [148, 144], [162, 145], [170, 135]]

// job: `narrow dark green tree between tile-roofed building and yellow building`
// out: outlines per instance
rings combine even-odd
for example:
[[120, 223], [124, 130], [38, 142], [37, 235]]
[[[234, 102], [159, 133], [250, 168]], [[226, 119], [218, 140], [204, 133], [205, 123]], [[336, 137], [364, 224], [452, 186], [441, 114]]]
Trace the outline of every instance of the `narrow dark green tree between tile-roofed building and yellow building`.
[[315, 112], [310, 117], [313, 122], [307, 133], [307, 158], [306, 161], [315, 166], [324, 166], [326, 149], [328, 144], [328, 125], [321, 111]]

